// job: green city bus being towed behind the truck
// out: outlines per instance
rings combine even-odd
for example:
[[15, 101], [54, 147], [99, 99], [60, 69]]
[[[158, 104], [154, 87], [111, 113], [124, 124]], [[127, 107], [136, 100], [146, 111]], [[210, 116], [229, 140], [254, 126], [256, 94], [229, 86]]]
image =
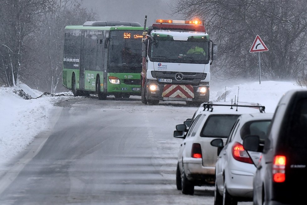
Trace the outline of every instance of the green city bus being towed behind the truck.
[[74, 96], [141, 95], [143, 29], [136, 22], [87, 21], [65, 27], [63, 86]]

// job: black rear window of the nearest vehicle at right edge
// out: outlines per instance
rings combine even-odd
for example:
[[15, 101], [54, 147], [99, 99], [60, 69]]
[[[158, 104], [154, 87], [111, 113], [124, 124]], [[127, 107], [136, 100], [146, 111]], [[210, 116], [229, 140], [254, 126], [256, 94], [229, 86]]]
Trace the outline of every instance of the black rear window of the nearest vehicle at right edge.
[[307, 99], [297, 102], [288, 134], [290, 147], [307, 147]]

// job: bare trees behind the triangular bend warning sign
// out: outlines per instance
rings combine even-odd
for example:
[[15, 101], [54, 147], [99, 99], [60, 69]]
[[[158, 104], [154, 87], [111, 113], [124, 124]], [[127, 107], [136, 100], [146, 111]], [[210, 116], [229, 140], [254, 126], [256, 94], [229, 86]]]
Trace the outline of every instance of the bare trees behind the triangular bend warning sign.
[[180, 0], [173, 12], [205, 19], [208, 33], [219, 44], [216, 70], [231, 78], [257, 76], [257, 57], [249, 50], [258, 34], [269, 48], [261, 54], [263, 76], [289, 79], [306, 70], [306, 4], [306, 0]]

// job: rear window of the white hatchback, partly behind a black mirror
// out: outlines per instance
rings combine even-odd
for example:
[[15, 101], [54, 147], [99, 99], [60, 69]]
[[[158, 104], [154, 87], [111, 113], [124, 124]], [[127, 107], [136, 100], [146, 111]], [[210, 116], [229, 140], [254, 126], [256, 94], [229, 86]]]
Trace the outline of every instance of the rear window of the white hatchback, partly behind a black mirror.
[[271, 124], [271, 120], [257, 120], [245, 123], [241, 130], [240, 136], [243, 139], [247, 135], [258, 135], [260, 140], [264, 142], [267, 138], [267, 131]]

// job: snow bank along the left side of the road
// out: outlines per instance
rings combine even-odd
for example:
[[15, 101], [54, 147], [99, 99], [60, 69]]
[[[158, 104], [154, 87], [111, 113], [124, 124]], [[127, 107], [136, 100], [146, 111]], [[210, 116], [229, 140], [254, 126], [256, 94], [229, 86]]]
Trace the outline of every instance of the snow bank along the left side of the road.
[[25, 100], [13, 93], [13, 90], [20, 89], [33, 98], [43, 94], [25, 84], [0, 87], [0, 165], [24, 149], [41, 130], [48, 127], [53, 103], [63, 98], [43, 96]]

